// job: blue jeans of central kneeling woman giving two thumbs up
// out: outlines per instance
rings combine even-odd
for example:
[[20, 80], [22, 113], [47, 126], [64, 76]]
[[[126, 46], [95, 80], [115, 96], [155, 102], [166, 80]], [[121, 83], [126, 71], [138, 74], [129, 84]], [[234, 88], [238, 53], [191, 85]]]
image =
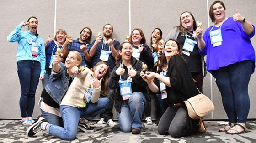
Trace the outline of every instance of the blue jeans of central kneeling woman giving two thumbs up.
[[142, 128], [142, 113], [147, 105], [146, 98], [141, 92], [133, 92], [128, 101], [123, 101], [121, 111], [117, 112], [120, 129], [131, 132], [132, 128]]

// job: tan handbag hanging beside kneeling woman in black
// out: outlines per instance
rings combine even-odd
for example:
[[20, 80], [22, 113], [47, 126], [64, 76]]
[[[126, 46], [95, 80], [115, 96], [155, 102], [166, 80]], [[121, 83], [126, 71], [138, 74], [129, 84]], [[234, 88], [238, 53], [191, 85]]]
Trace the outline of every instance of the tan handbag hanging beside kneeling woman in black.
[[187, 112], [192, 119], [199, 119], [213, 112], [213, 102], [205, 95], [198, 94], [184, 101]]

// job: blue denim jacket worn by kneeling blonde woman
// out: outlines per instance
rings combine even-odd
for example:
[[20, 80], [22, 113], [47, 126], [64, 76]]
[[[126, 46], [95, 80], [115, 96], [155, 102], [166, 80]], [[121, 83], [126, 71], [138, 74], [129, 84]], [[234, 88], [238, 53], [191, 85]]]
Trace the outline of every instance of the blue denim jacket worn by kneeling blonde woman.
[[69, 88], [69, 74], [64, 63], [60, 62], [59, 66], [59, 72], [56, 73], [52, 70], [45, 90], [53, 98], [53, 100], [60, 105], [62, 98]]

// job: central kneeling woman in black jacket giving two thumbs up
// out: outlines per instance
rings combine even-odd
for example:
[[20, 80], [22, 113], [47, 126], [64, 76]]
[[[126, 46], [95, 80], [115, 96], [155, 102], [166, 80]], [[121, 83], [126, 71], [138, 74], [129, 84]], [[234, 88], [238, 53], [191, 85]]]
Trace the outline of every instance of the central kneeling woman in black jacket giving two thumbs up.
[[132, 57], [133, 49], [129, 42], [123, 42], [118, 51], [117, 65], [108, 80], [110, 89], [117, 88], [115, 108], [123, 132], [139, 134], [142, 128], [142, 113], [149, 93], [147, 83], [140, 77], [142, 62]]

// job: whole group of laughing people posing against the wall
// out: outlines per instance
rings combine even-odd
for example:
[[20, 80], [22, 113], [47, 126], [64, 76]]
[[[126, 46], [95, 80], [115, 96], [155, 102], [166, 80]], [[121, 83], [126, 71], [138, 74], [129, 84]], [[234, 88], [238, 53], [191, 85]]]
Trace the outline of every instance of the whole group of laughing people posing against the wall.
[[[206, 69], [216, 81], [229, 119], [229, 125], [219, 131], [246, 133], [248, 83], [255, 69], [250, 39], [255, 27], [238, 10], [226, 17], [225, 9], [222, 1], [213, 2], [209, 16], [214, 25], [204, 34], [192, 13], [185, 11], [180, 25], [165, 40], [161, 29], [155, 28], [149, 46], [139, 28], [120, 44], [112, 38], [111, 24], [104, 25], [103, 36], [98, 33], [92, 43], [89, 27], [84, 27], [76, 40], [59, 29], [54, 39], [48, 36], [43, 43], [36, 17], [21, 22], [7, 39], [18, 42], [21, 123], [30, 125], [27, 135], [46, 130], [73, 140], [77, 128], [91, 129], [87, 120], [98, 114], [99, 124], [115, 125], [114, 103], [121, 131], [139, 134], [143, 113], [147, 123], [152, 123], [153, 96], [158, 100], [159, 134], [183, 137], [194, 131], [205, 132], [202, 120], [188, 116], [183, 101], [203, 92]], [[26, 25], [28, 32], [21, 31]], [[33, 121], [39, 80], [43, 80], [39, 101], [42, 115]]]

